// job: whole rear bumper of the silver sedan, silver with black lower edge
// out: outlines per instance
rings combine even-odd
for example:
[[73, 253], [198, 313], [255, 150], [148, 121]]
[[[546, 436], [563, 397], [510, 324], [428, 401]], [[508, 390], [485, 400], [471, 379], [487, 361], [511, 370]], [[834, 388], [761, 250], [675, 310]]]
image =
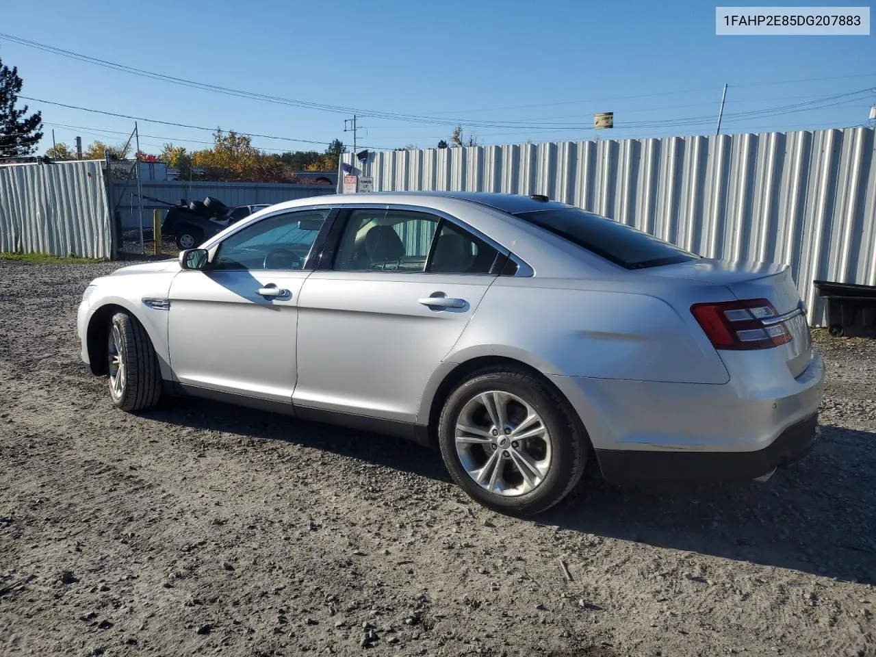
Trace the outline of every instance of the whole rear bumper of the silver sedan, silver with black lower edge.
[[606, 478], [752, 479], [815, 441], [824, 364], [813, 351], [793, 377], [784, 362], [765, 364], [757, 354], [749, 360], [731, 360], [723, 385], [551, 380], [581, 417]]

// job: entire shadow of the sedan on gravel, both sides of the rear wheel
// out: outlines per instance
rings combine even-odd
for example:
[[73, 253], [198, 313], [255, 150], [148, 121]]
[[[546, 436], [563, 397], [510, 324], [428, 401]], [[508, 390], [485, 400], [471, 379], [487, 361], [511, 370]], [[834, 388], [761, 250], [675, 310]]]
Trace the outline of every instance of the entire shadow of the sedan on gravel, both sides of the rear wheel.
[[[437, 451], [383, 434], [332, 427], [199, 399], [144, 413], [182, 427], [293, 442], [449, 482]], [[559, 505], [526, 522], [660, 548], [876, 583], [876, 434], [823, 427], [802, 461], [766, 483], [606, 483], [588, 472]]]

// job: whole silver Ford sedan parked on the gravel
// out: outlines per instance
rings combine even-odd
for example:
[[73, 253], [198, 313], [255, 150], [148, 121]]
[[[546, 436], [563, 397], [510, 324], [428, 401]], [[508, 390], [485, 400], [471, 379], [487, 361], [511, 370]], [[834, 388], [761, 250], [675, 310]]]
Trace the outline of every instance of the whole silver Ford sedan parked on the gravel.
[[85, 290], [82, 359], [164, 392], [398, 434], [501, 512], [615, 481], [767, 478], [816, 441], [787, 267], [700, 258], [540, 195], [274, 205]]

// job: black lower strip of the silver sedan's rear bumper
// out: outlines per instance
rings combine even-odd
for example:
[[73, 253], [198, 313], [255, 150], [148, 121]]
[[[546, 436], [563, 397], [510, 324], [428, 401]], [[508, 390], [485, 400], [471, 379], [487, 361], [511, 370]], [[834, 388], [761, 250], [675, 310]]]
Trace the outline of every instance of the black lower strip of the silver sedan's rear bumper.
[[635, 481], [730, 482], [755, 479], [793, 463], [816, 443], [817, 416], [796, 422], [769, 446], [753, 452], [642, 451], [597, 449], [606, 479]]

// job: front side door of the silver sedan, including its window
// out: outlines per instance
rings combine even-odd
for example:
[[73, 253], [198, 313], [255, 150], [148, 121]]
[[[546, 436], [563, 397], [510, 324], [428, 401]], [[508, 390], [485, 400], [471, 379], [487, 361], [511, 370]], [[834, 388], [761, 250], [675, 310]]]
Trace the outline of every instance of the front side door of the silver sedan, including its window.
[[301, 285], [331, 211], [267, 215], [223, 237], [206, 270], [174, 277], [168, 343], [178, 384], [291, 402]]

